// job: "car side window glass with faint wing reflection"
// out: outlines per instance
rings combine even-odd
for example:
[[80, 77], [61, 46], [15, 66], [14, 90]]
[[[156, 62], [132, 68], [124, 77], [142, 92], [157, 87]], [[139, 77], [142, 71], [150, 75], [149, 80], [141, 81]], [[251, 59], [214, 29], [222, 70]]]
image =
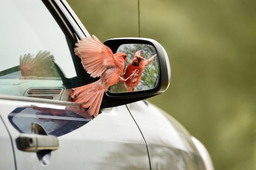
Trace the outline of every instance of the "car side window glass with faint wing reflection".
[[69, 100], [74, 48], [45, 4], [7, 0], [0, 22], [0, 94]]

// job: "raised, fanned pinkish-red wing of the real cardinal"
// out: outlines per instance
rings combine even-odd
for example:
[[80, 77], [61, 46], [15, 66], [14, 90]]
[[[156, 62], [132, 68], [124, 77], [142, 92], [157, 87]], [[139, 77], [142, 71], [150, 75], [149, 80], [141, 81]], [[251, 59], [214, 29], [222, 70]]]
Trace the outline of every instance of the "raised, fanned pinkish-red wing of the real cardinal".
[[99, 77], [108, 68], [114, 65], [115, 59], [112, 50], [105, 46], [96, 36], [86, 37], [75, 44], [75, 54], [82, 60], [83, 68], [91, 77]]

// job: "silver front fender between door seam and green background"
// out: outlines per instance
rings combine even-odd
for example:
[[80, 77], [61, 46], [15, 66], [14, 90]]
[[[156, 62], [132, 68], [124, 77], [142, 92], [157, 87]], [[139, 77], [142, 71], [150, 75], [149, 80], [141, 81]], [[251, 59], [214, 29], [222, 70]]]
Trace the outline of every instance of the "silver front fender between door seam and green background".
[[191, 135], [174, 118], [145, 101], [127, 106], [147, 143], [151, 169], [206, 169]]

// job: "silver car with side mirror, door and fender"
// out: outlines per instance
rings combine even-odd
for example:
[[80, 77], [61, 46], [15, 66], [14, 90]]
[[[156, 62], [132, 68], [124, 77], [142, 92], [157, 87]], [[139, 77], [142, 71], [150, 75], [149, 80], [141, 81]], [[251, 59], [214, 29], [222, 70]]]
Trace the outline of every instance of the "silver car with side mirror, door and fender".
[[135, 90], [123, 82], [111, 86], [94, 117], [70, 100], [72, 88], [98, 78], [75, 55], [75, 43], [91, 36], [68, 3], [7, 0], [0, 11], [1, 170], [214, 169], [204, 145], [146, 100], [164, 92], [171, 78], [157, 41], [104, 42], [113, 52], [126, 51], [129, 62], [138, 49], [145, 59], [157, 57]]

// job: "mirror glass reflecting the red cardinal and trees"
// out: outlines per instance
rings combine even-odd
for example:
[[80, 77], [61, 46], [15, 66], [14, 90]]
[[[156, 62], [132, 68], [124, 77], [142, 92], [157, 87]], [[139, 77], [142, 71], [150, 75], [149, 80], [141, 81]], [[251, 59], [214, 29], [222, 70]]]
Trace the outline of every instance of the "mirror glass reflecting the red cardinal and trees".
[[158, 58], [155, 48], [148, 44], [122, 44], [117, 52], [124, 52], [128, 61], [120, 77], [123, 81], [110, 86], [109, 92], [122, 93], [150, 90], [158, 83]]

